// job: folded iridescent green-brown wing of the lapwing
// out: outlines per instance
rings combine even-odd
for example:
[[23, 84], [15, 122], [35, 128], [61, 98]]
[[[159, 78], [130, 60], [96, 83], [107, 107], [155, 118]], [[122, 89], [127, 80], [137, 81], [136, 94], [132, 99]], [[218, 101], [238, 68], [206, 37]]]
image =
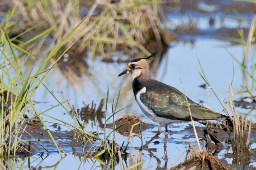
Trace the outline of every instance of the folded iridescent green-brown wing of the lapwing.
[[[146, 93], [140, 95], [143, 104], [149, 107], [156, 115], [173, 120], [190, 120], [190, 113], [185, 95], [166, 84], [151, 84], [146, 86]], [[223, 117], [212, 110], [196, 104], [188, 98], [190, 110], [194, 120], [215, 120]]]

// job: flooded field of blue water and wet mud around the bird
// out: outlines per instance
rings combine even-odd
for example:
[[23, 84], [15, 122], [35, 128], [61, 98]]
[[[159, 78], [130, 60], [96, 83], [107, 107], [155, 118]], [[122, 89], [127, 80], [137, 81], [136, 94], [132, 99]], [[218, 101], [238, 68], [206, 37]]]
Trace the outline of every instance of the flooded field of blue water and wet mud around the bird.
[[[81, 13], [87, 13], [86, 5], [91, 6], [92, 3], [85, 4], [85, 7], [80, 9]], [[226, 104], [228, 88], [230, 88], [232, 82], [232, 93], [236, 94], [232, 96], [232, 100], [237, 102], [238, 113], [244, 115], [244, 117], [248, 115], [249, 120], [252, 118], [252, 132], [249, 143], [252, 152], [246, 158], [241, 158], [242, 156], [240, 158], [235, 157], [232, 154], [232, 144], [224, 142], [226, 139], [228, 140], [228, 132], [225, 131], [219, 133], [223, 147], [212, 150], [212, 153], [218, 157], [222, 164], [233, 169], [254, 169], [256, 166], [254, 150], [256, 148], [256, 135], [254, 135], [256, 133], [256, 126], [254, 125], [256, 122], [255, 85], [250, 76], [244, 76], [241, 65], [235, 59], [240, 63], [244, 61], [246, 47], [238, 41], [241, 38], [239, 33], [242, 32], [245, 41], [247, 41], [256, 6], [249, 2], [229, 0], [166, 1], [159, 6], [162, 7], [166, 18], [166, 25], [162, 25], [162, 27], [166, 26], [175, 40], [170, 41], [169, 47], [165, 50], [161, 50], [163, 51], [161, 57], [157, 56], [158, 58], [150, 63], [152, 78], [173, 86], [181, 92], [183, 92], [183, 84], [186, 96], [191, 100], [198, 104], [204, 104], [222, 114], [226, 113], [218, 98]], [[4, 21], [3, 18], [0, 18], [0, 20]], [[24, 38], [29, 39], [28, 37], [34, 36], [34, 34], [26, 36]], [[255, 48], [253, 43], [251, 46], [252, 49], [249, 51], [250, 55], [245, 67], [254, 76]], [[45, 48], [47, 46], [43, 45], [43, 49]], [[148, 51], [154, 52], [158, 46], [152, 45], [151, 48]], [[122, 154], [122, 161], [119, 159], [112, 160], [107, 156], [95, 158], [88, 155], [89, 152], [100, 150], [100, 148], [93, 148], [94, 145], [90, 142], [84, 147], [85, 141], [80, 139], [79, 135], [74, 135], [76, 133], [72, 131], [74, 129], [72, 125], [76, 126], [78, 124], [77, 120], [71, 117], [70, 114], [77, 115], [81, 122], [86, 121], [86, 131], [92, 132], [96, 137], [104, 139], [106, 135], [108, 136], [111, 133], [111, 140], [114, 137], [119, 146], [124, 143], [122, 149], [126, 147], [131, 125], [141, 123], [143, 145], [158, 131], [157, 123], [146, 117], [135, 101], [132, 77], [128, 75], [118, 77], [118, 74], [126, 69], [128, 61], [136, 59], [136, 54], [139, 54], [139, 52], [137, 49], [130, 49], [133, 50], [131, 56], [123, 50], [118, 51], [117, 49], [106, 56], [95, 53], [95, 57], [92, 57], [92, 50], [88, 53], [68, 51], [64, 54], [58, 61], [58, 65], [50, 70], [50, 74], [43, 80], [44, 86], [40, 85], [32, 97], [38, 113], [53, 107], [44, 113], [46, 115], [41, 115], [48, 129], [46, 130], [40, 121], [28, 124], [26, 131], [23, 131], [22, 139], [27, 143], [31, 142], [33, 148], [30, 147], [30, 152], [33, 154], [16, 153], [15, 158], [10, 156], [10, 159], [2, 161], [4, 165], [7, 165], [6, 169], [32, 169], [32, 167], [35, 167], [34, 169], [38, 170], [143, 168], [160, 170], [168, 167], [172, 168], [184, 162], [188, 156], [189, 148], [191, 149], [191, 144], [198, 149], [196, 137], [191, 122], [189, 122], [168, 125], [169, 136], [166, 148], [168, 159], [164, 158], [164, 126], [162, 126], [162, 133], [159, 137], [150, 143], [148, 148], [142, 147], [140, 153], [139, 150], [142, 145], [140, 127], [136, 125], [133, 130], [135, 135], [130, 138], [130, 144], [127, 148], [128, 154]], [[23, 73], [28, 75], [31, 69], [32, 73], [36, 72], [45, 56], [38, 55], [38, 57], [40, 59], [27, 59], [28, 61], [22, 68]], [[58, 57], [60, 57], [60, 54], [56, 55], [56, 59]], [[21, 60], [24, 61], [25, 57]], [[202, 73], [198, 60], [218, 98], [198, 73]], [[15, 73], [10, 71], [9, 74], [13, 77]], [[40, 82], [43, 76], [40, 75], [38, 78], [35, 80], [36, 82]], [[180, 80], [182, 80], [182, 83]], [[120, 97], [116, 110], [126, 108], [111, 117], [113, 114], [112, 101], [115, 108], [119, 90]], [[65, 102], [67, 100], [68, 102]], [[63, 106], [66, 109], [62, 106], [54, 107], [61, 102], [65, 102]], [[74, 113], [76, 109], [78, 109], [77, 113]], [[68, 111], [70, 111], [70, 114], [68, 114]], [[111, 118], [108, 119], [109, 117]], [[108, 121], [106, 122], [106, 131], [104, 131], [104, 121], [106, 119]], [[128, 123], [117, 129], [116, 133], [112, 133], [114, 129], [113, 120], [115, 120], [116, 127]], [[200, 145], [205, 147], [206, 141], [203, 139], [205, 124], [196, 121], [194, 123]], [[64, 158], [56, 149], [55, 144], [52, 143], [48, 131], [51, 132], [55, 141], [64, 150], [62, 152], [65, 155]], [[100, 144], [96, 139], [94, 139], [94, 142], [97, 145]], [[24, 142], [21, 142], [20, 145], [27, 147]], [[133, 166], [134, 164], [136, 166]]]

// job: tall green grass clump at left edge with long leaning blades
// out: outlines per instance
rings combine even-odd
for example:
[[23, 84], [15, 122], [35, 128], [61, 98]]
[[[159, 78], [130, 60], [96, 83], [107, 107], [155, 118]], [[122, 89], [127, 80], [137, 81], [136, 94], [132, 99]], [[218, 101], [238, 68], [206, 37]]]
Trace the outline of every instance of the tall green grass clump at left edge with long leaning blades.
[[[12, 14], [13, 11], [10, 12], [8, 18], [11, 18], [10, 16], [12, 16]], [[24, 140], [21, 139], [21, 137], [22, 133], [27, 127], [28, 121], [34, 119], [36, 119], [36, 121], [39, 120], [43, 124], [43, 126], [48, 129], [44, 120], [41, 117], [41, 114], [45, 115], [44, 112], [54, 107], [57, 107], [62, 103], [50, 109], [47, 109], [46, 111], [38, 112], [32, 100], [32, 96], [34, 95], [38, 87], [43, 84], [42, 81], [44, 80], [46, 75], [58, 62], [57, 60], [52, 64], [52, 66], [50, 66], [50, 68], [45, 68], [48, 64], [48, 61], [63, 46], [63, 44], [68, 41], [68, 39], [74, 34], [78, 27], [79, 24], [77, 25], [77, 27], [75, 27], [73, 31], [71, 31], [67, 35], [67, 37], [62, 41], [62, 43], [60, 43], [60, 45], [57, 45], [50, 52], [48, 57], [42, 62], [42, 65], [37, 68], [37, 71], [31, 68], [30, 72], [23, 71], [24, 64], [30, 56], [24, 59], [24, 61], [21, 63], [21, 57], [24, 54], [30, 54], [30, 52], [26, 51], [22, 47], [15, 46], [14, 43], [11, 42], [11, 39], [9, 38], [6, 30], [2, 28], [0, 29], [0, 44], [2, 45], [2, 47], [0, 48], [2, 59], [2, 63], [0, 65], [0, 155], [15, 155], [17, 148], [22, 148], [26, 150], [26, 148], [22, 147], [22, 145], [18, 145], [18, 143], [26, 143]], [[68, 49], [70, 47], [68, 47]], [[66, 51], [68, 49], [66, 49]], [[22, 52], [23, 55], [18, 57], [16, 55], [17, 51]], [[66, 51], [64, 51], [64, 53], [60, 55], [59, 59], [65, 54]], [[32, 55], [31, 57], [36, 56]], [[32, 71], [35, 72], [35, 74], [32, 74]], [[14, 74], [10, 74], [10, 72], [13, 72]], [[38, 76], [40, 76], [39, 81]], [[50, 135], [52, 142], [56, 146], [58, 152], [62, 156], [62, 152], [59, 149], [60, 147], [52, 137], [50, 131], [47, 132]], [[91, 135], [90, 133], [88, 134]], [[27, 144], [30, 147], [30, 143]], [[31, 153], [29, 150], [26, 151]]]

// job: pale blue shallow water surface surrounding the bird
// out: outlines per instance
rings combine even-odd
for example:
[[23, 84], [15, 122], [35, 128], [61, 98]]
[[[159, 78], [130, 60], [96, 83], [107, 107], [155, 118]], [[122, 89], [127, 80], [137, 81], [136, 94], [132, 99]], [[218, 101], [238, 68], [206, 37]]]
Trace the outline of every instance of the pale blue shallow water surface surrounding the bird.
[[[214, 88], [214, 91], [217, 93], [220, 100], [224, 100], [227, 96], [229, 81], [231, 82], [233, 80], [232, 90], [234, 93], [239, 92], [242, 89], [241, 85], [243, 85], [242, 70], [240, 66], [232, 59], [228, 51], [232, 53], [238, 59], [238, 61], [242, 62], [244, 48], [239, 45], [230, 46], [231, 43], [228, 41], [215, 39], [216, 37], [225, 33], [224, 31], [217, 34], [216, 32], [219, 29], [224, 28], [224, 30], [228, 30], [230, 28], [236, 28], [238, 25], [240, 25], [240, 22], [238, 21], [230, 19], [226, 19], [225, 21], [221, 20], [226, 13], [220, 12], [217, 9], [219, 9], [222, 5], [223, 4], [220, 3], [217, 7], [213, 5], [210, 6], [209, 9], [207, 9], [213, 10], [213, 13], [208, 13], [207, 15], [203, 15], [203, 13], [201, 14], [200, 12], [193, 12], [193, 10], [186, 14], [182, 14], [181, 16], [179, 12], [166, 13], [166, 17], [169, 20], [168, 23], [170, 23], [168, 25], [169, 29], [175, 29], [173, 25], [180, 25], [181, 23], [186, 22], [188, 20], [188, 16], [190, 16], [190, 18], [196, 18], [198, 31], [194, 33], [183, 33], [177, 31], [176, 33], [178, 39], [170, 43], [170, 48], [168, 48], [167, 53], [164, 54], [164, 57], [162, 58], [162, 61], [156, 72], [154, 72], [153, 76], [156, 80], [164, 82], [170, 86], [174, 86], [181, 92], [183, 92], [183, 84], [186, 96], [197, 103], [202, 101], [204, 104], [218, 112], [222, 112], [223, 109], [213, 92], [210, 89], [207, 90], [200, 87], [200, 85], [205, 84], [205, 82], [198, 74], [198, 72], [201, 72], [198, 59], [200, 60], [201, 66], [210, 82], [210, 85], [212, 88]], [[206, 8], [205, 4], [198, 5], [198, 8], [203, 7]], [[214, 14], [215, 17], [214, 27], [210, 27], [208, 23], [208, 17], [212, 14]], [[244, 16], [247, 19], [251, 19], [251, 16], [248, 13], [244, 13]], [[243, 24], [244, 27], [248, 28], [248, 25], [245, 23]], [[214, 32], [216, 34], [214, 34]], [[116, 52], [113, 57], [114, 61], [120, 56], [124, 59], [128, 58], [126, 55]], [[69, 56], [63, 58], [63, 60], [64, 59], [70, 60], [72, 58]], [[83, 102], [90, 104], [92, 100], [94, 100], [94, 103], [96, 103], [98, 106], [102, 98], [106, 99], [107, 88], [109, 87], [110, 96], [108, 101], [107, 117], [112, 115], [112, 100], [115, 98], [116, 101], [118, 91], [121, 89], [117, 109], [121, 109], [126, 106], [128, 107], [116, 114], [115, 119], [122, 117], [123, 115], [135, 114], [142, 115], [143, 121], [153, 123], [155, 126], [152, 129], [146, 129], [143, 131], [142, 137], [145, 144], [146, 141], [150, 140], [151, 137], [155, 135], [158, 127], [156, 123], [152, 122], [148, 117], [146, 117], [138, 107], [132, 92], [132, 78], [128, 75], [118, 77], [118, 74], [126, 69], [126, 63], [104, 63], [102, 62], [102, 57], [100, 56], [95, 57], [93, 60], [91, 60], [89, 57], [83, 57], [82, 59], [84, 59], [89, 66], [87, 70], [84, 70], [84, 72], [74, 74], [74, 70], [71, 70], [70, 68], [56, 67], [51, 70], [51, 74], [50, 76], [47, 76], [44, 84], [54, 94], [54, 96], [60, 100], [60, 102], [69, 100], [69, 103], [74, 105], [75, 108], [84, 107]], [[29, 68], [31, 68], [34, 64], [40, 64], [40, 61], [38, 60], [36, 63], [27, 64], [25, 69], [28, 69], [29, 72]], [[250, 63], [248, 66], [251, 66]], [[36, 66], [34, 69], [36, 70]], [[182, 80], [182, 84], [180, 79]], [[240, 98], [241, 96], [242, 95], [236, 96], [234, 99]], [[36, 107], [40, 112], [58, 104], [58, 102], [56, 102], [56, 100], [43, 86], [40, 86], [36, 91], [36, 94], [33, 96], [33, 100], [37, 102]], [[67, 103], [64, 104], [64, 106], [69, 108]], [[242, 113], [248, 112], [245, 109], [238, 110]], [[74, 120], [70, 119], [70, 115], [68, 115], [62, 107], [56, 107], [46, 113], [65, 122], [75, 124]], [[250, 115], [254, 117], [255, 111], [252, 111]], [[52, 123], [55, 123], [56, 120], [50, 119], [46, 116], [43, 116], [43, 119], [44, 121], [48, 121], [47, 125], [50, 130], [57, 131], [56, 128], [50, 126]], [[255, 122], [255, 118], [253, 121]], [[107, 123], [111, 122], [112, 119], [110, 119]], [[199, 125], [199, 123], [196, 123], [196, 125]], [[189, 142], [196, 145], [195, 138], [183, 138], [185, 135], [190, 136], [191, 133], [186, 134], [184, 131], [182, 133], [178, 133], [179, 131], [185, 129], [186, 126], [188, 126], [188, 123], [179, 123], [168, 126], [168, 128], [171, 130], [171, 135], [168, 137], [167, 143], [167, 164], [165, 164], [163, 159], [164, 133], [162, 133], [157, 139], [154, 140], [154, 143], [149, 145], [149, 149], [153, 150], [152, 154], [154, 154], [155, 157], [150, 156], [150, 152], [148, 150], [142, 151], [142, 158], [145, 160], [143, 167], [148, 165], [153, 165], [153, 167], [150, 169], [156, 169], [158, 166], [168, 167], [178, 158], [180, 154], [182, 154], [182, 156], [175, 163], [175, 165], [183, 162], [186, 156], [184, 151], [187, 150]], [[94, 131], [96, 129], [96, 126], [88, 126], [87, 131]], [[65, 131], [70, 129], [65, 126], [61, 126], [60, 130]], [[106, 133], [110, 133], [111, 131], [112, 129], [107, 129]], [[162, 127], [162, 131], [164, 131], [164, 127]], [[172, 131], [174, 132], [173, 134]], [[103, 136], [104, 135], [102, 134], [101, 137]], [[116, 139], [119, 144], [122, 144], [123, 141], [126, 143], [127, 141], [127, 137], [124, 137], [118, 133]], [[65, 142], [68, 143], [71, 141]], [[132, 138], [132, 144], [134, 148], [138, 150], [141, 144], [140, 139], [138, 137]], [[201, 145], [203, 146], [204, 143], [201, 143]], [[130, 149], [131, 147], [128, 147], [128, 151]], [[83, 160], [79, 156], [75, 156], [71, 150], [67, 152], [68, 156], [66, 156], [63, 160], [61, 159], [60, 154], [56, 153], [55, 148], [52, 148], [51, 152], [52, 153], [50, 153], [50, 155], [46, 158], [46, 155], [42, 156], [44, 160], [35, 154], [30, 157], [30, 160], [24, 160], [24, 165], [27, 165], [28, 161], [30, 161], [30, 166], [38, 167], [40, 165], [42, 167], [48, 167], [48, 169], [87, 169], [88, 167], [91, 167], [90, 169], [98, 169], [101, 167], [100, 162], [97, 160]], [[230, 146], [225, 145], [225, 149], [218, 154], [219, 158], [223, 158], [224, 154], [228, 152], [231, 152]], [[227, 161], [232, 162], [232, 158], [227, 158]], [[21, 163], [22, 161], [20, 160], [20, 162], [18, 162], [18, 166], [20, 166]], [[255, 164], [252, 163], [252, 165]], [[119, 164], [116, 166], [116, 169], [120, 169]]]

